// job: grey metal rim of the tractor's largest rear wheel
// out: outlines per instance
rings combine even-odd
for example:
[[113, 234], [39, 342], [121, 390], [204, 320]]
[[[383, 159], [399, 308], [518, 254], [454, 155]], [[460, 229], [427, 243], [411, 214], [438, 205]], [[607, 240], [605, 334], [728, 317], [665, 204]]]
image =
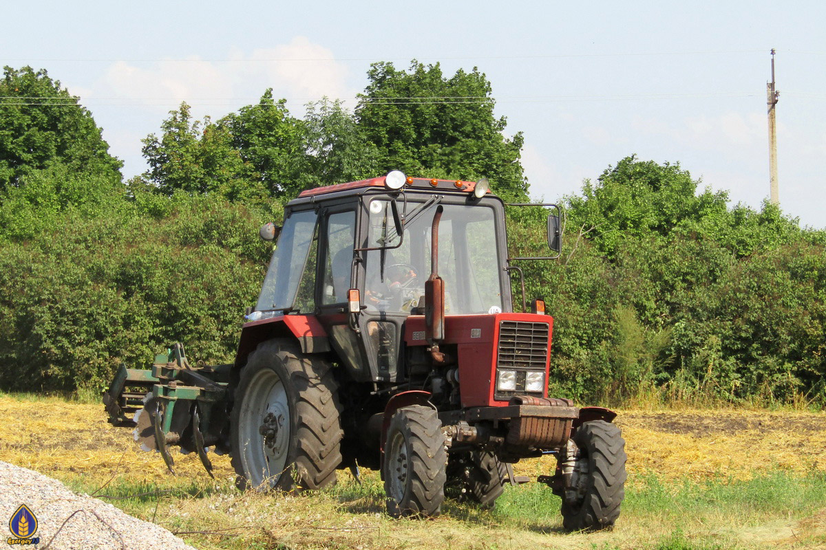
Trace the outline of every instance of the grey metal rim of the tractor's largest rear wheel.
[[253, 487], [274, 487], [287, 468], [291, 425], [287, 391], [271, 369], [255, 374], [247, 388], [239, 418], [244, 472]]

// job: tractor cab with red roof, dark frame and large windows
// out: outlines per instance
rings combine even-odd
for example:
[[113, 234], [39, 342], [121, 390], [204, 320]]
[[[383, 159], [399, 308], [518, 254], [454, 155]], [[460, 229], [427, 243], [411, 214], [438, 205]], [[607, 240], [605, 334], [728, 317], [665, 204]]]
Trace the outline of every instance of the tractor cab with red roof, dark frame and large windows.
[[425, 313], [434, 244], [446, 317], [510, 312], [511, 296], [501, 199], [474, 193], [474, 182], [405, 178], [392, 190], [385, 179], [305, 191], [287, 205], [250, 318], [316, 316], [354, 379], [396, 383], [410, 374], [404, 327]]

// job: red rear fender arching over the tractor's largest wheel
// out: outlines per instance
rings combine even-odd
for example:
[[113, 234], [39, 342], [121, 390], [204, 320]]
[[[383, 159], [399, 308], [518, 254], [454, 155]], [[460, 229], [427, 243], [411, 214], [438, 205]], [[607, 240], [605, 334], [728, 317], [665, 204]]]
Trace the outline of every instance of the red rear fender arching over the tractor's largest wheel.
[[247, 363], [247, 357], [263, 341], [273, 338], [295, 338], [306, 354], [330, 351], [327, 331], [318, 322], [315, 315], [279, 315], [244, 323], [235, 355], [235, 368], [240, 369]]

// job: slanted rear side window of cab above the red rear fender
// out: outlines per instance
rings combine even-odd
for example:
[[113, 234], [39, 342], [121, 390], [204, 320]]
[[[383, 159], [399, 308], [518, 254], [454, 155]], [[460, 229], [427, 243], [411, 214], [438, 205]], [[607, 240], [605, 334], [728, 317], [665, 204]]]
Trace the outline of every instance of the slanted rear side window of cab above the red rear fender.
[[[278, 246], [273, 251], [267, 276], [263, 280], [259, 301], [255, 306], [256, 310], [293, 308], [298, 284], [301, 282], [301, 274], [307, 263], [310, 245], [314, 243], [315, 233], [316, 213], [312, 210], [293, 212], [284, 220], [284, 227], [278, 237]], [[313, 274], [315, 261], [311, 264], [308, 275]], [[306, 308], [303, 302], [307, 299], [312, 301], [312, 278], [306, 279], [309, 282], [306, 281], [302, 285], [302, 297], [299, 300], [302, 309]]]

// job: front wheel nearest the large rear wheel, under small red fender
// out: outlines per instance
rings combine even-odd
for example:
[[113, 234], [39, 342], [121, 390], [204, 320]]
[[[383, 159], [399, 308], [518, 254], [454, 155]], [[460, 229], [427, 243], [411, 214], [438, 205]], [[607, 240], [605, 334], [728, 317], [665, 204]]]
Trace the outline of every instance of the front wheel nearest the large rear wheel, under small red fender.
[[444, 501], [445, 466], [442, 423], [430, 407], [401, 407], [390, 419], [384, 454], [387, 513], [435, 517]]

